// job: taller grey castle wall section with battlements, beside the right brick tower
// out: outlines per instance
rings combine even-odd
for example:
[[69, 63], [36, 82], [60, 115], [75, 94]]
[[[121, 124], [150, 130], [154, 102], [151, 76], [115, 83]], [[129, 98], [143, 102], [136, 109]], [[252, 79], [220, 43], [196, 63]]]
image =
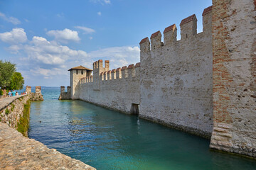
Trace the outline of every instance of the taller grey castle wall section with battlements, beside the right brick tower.
[[211, 12], [203, 13], [203, 32], [196, 16], [140, 42], [141, 104], [139, 117], [210, 138], [213, 129]]

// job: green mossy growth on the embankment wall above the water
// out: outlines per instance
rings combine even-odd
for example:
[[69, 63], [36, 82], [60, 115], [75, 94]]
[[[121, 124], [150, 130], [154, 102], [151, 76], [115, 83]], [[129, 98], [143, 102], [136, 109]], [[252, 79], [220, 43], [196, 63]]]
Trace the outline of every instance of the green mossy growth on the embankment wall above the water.
[[24, 104], [23, 116], [20, 118], [17, 128], [18, 132], [21, 132], [26, 137], [28, 136], [30, 105], [29, 100]]

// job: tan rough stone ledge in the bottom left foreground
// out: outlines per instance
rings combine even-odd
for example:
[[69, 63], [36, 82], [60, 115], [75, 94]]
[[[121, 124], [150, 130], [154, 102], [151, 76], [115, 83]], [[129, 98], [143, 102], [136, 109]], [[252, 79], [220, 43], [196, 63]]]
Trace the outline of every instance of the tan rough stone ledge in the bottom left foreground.
[[0, 123], [0, 169], [95, 169]]

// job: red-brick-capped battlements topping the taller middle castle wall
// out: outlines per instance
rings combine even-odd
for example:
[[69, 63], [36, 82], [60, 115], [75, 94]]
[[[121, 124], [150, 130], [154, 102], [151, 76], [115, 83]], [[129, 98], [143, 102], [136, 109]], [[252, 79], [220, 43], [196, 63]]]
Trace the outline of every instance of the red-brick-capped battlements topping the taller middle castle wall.
[[[153, 33], [149, 38], [142, 39], [139, 42], [140, 50], [143, 53], [157, 50], [166, 45], [176, 45], [177, 43], [182, 44], [186, 41], [200, 40], [205, 36], [211, 36], [211, 20], [212, 20], [212, 6], [205, 8], [203, 13], [203, 33], [197, 33], [197, 18], [193, 14], [184, 18], [180, 23], [181, 28], [181, 40], [177, 40], [177, 28], [176, 24], [173, 24], [164, 29], [164, 42], [161, 42], [160, 30]], [[198, 35], [201, 36], [198, 36]]]

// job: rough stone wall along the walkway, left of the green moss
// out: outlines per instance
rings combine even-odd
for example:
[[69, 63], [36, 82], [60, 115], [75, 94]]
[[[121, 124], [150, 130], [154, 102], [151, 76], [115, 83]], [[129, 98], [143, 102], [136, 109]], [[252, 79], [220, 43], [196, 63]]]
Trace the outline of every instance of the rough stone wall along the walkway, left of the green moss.
[[28, 95], [20, 95], [1, 99], [0, 122], [17, 130], [18, 123], [23, 116], [24, 104], [29, 100]]

